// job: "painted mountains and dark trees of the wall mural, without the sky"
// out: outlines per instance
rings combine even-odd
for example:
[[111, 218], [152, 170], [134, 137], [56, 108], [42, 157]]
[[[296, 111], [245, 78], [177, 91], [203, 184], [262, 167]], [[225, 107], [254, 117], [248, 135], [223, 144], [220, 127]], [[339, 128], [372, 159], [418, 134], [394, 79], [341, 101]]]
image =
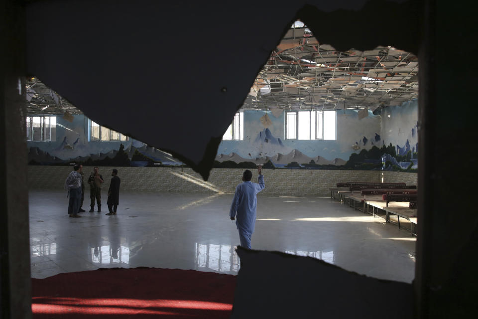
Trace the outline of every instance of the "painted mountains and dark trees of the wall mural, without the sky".
[[[373, 140], [377, 142], [376, 137]], [[91, 151], [92, 148], [87, 148], [78, 142], [79, 140], [76, 139], [73, 143], [68, 143], [65, 137], [58, 147], [51, 151], [51, 154], [38, 147], [30, 147], [28, 149], [29, 164], [69, 165], [75, 162], [99, 166], [185, 166], [170, 154], [145, 144], [136, 144], [137, 147], [130, 144], [126, 149], [121, 144], [118, 150], [88, 154], [86, 152]], [[363, 139], [361, 142], [363, 143]], [[362, 143], [357, 145], [363, 146]], [[357, 150], [348, 160], [341, 158], [328, 160], [321, 156], [307, 156], [297, 149], [285, 146], [280, 138], [272, 135], [269, 129], [259, 132], [251, 144], [255, 147], [254, 154], [257, 155], [255, 158], [244, 158], [234, 152], [227, 155], [219, 154], [215, 159], [214, 167], [254, 168], [257, 164], [264, 164], [267, 168], [290, 169], [415, 171], [418, 168], [417, 152], [412, 152], [412, 150], [418, 150], [418, 143], [410, 148], [408, 140], [403, 146], [392, 146], [392, 144], [385, 146], [382, 142], [381, 148], [374, 145], [368, 150]], [[273, 151], [277, 149], [284, 153], [274, 153]]]

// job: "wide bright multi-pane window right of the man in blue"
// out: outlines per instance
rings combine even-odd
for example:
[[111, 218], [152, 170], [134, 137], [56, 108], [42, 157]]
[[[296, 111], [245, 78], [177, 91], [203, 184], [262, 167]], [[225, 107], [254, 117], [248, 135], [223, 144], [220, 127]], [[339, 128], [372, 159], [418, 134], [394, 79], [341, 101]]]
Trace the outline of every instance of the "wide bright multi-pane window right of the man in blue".
[[336, 111], [287, 112], [287, 140], [336, 140]]

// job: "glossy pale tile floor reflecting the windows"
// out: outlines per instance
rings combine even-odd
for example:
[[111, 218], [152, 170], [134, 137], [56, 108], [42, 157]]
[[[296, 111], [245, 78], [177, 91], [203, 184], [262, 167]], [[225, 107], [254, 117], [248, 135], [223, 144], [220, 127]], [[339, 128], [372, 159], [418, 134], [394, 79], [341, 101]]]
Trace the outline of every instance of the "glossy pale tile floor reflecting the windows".
[[[231, 194], [120, 193], [116, 216], [103, 199], [101, 213], [69, 218], [66, 192], [29, 193], [33, 278], [139, 266], [238, 273]], [[415, 237], [383, 221], [327, 197], [259, 196], [252, 248], [410, 283]]]

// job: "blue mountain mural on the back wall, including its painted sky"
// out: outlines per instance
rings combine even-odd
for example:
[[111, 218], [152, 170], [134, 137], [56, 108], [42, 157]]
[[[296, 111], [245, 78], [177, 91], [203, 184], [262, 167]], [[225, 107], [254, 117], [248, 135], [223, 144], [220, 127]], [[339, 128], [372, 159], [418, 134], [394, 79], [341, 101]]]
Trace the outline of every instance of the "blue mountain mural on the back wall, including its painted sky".
[[[289, 169], [384, 169], [415, 171], [418, 168], [418, 104], [390, 107], [377, 116], [359, 119], [356, 110], [337, 113], [335, 140], [284, 139], [285, 112], [270, 116], [245, 110], [243, 140], [223, 140], [213, 167]], [[30, 164], [111, 166], [185, 166], [170, 154], [128, 141], [89, 141], [88, 120], [75, 115], [72, 123], [57, 117], [57, 141], [28, 141]], [[65, 129], [63, 129], [63, 127]]]

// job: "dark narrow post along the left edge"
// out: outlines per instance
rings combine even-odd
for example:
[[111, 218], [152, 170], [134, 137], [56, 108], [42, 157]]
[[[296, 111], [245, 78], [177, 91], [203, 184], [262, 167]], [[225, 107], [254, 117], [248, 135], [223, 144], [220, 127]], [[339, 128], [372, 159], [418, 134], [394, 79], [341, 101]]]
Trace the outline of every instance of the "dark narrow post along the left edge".
[[0, 309], [1, 319], [31, 318], [25, 21], [22, 1], [0, 7]]

